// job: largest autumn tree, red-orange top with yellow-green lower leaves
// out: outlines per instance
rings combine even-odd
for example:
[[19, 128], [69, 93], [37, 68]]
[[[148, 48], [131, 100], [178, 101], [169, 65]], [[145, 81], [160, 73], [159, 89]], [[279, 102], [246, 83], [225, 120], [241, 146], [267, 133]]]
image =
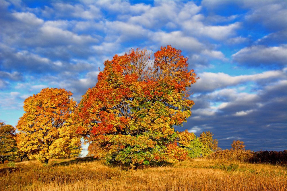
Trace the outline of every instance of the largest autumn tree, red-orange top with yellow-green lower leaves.
[[181, 50], [161, 47], [151, 58], [146, 49], [132, 49], [104, 66], [75, 119], [76, 132], [92, 141], [91, 154], [131, 165], [185, 159], [174, 126], [191, 115], [189, 87], [197, 78]]

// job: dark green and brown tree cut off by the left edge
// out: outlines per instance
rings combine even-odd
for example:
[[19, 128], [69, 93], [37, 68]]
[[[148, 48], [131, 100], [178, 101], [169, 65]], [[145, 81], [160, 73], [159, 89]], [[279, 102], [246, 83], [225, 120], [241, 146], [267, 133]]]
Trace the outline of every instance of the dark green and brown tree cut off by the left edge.
[[16, 140], [15, 128], [12, 125], [5, 125], [0, 122], [0, 161], [15, 160], [16, 158]]

